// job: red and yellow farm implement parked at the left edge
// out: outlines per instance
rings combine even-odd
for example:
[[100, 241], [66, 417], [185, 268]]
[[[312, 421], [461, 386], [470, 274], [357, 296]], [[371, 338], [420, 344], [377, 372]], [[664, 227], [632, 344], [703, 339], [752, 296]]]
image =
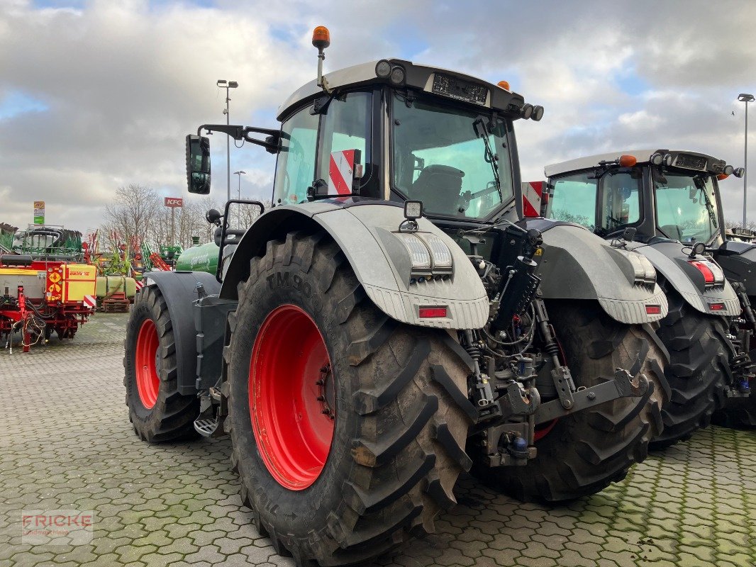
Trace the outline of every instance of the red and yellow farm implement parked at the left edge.
[[70, 339], [95, 308], [95, 268], [82, 263], [81, 234], [33, 225], [0, 254], [0, 341], [23, 352], [52, 333]]

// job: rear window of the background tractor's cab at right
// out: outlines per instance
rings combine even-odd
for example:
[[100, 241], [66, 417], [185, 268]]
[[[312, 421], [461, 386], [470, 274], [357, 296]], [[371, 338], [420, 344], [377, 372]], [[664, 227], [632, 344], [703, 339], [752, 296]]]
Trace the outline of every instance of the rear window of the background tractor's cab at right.
[[717, 199], [708, 174], [654, 170], [656, 225], [667, 237], [708, 242], [719, 231]]

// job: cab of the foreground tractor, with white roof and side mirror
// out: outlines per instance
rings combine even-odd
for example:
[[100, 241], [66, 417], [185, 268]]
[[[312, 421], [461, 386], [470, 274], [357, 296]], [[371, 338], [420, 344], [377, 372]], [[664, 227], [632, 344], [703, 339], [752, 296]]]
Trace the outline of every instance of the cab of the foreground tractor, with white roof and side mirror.
[[[280, 107], [280, 131], [203, 125], [198, 134], [227, 132], [276, 153], [274, 207], [420, 200], [429, 218], [479, 223], [513, 201], [513, 121], [541, 116], [505, 82], [384, 59], [304, 85]], [[209, 171], [208, 138], [188, 136], [191, 192], [209, 191], [197, 183]]]

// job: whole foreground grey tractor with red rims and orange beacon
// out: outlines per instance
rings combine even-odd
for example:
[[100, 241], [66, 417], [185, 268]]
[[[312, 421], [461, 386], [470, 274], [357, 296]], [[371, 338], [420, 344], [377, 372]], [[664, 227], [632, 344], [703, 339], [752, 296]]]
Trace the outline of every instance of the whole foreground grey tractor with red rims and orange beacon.
[[[527, 500], [622, 479], [661, 432], [668, 386], [649, 324], [667, 302], [644, 256], [585, 228], [517, 225], [509, 85], [407, 60], [324, 76], [280, 129], [187, 136], [277, 156], [273, 206], [218, 225], [215, 274], [153, 271], [125, 341], [147, 442], [228, 433], [243, 501], [299, 565], [343, 565], [433, 530], [461, 471]], [[233, 247], [233, 248], [231, 248]], [[233, 249], [233, 254], [230, 250]], [[208, 259], [209, 260], [209, 259]], [[206, 265], [203, 265], [206, 269]]]

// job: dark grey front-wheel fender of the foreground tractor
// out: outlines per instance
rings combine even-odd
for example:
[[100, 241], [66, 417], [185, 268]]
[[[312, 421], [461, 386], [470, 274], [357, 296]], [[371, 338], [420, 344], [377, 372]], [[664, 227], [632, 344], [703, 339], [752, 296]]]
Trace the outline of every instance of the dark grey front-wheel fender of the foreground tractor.
[[204, 271], [150, 271], [144, 274], [145, 285], [156, 286], [166, 300], [175, 339], [178, 392], [197, 392], [197, 329], [192, 302], [197, 299], [197, 283], [209, 295], [217, 295], [221, 284], [215, 275]]

